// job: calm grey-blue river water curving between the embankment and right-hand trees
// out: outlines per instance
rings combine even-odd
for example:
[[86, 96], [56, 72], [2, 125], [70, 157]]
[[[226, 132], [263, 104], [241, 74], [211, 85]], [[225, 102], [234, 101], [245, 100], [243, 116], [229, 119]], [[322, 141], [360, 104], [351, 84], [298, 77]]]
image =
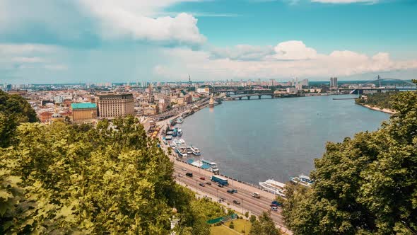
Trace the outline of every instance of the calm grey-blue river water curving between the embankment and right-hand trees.
[[215, 161], [226, 176], [254, 184], [269, 178], [286, 182], [309, 174], [326, 142], [377, 130], [389, 119], [353, 100], [332, 100], [352, 97], [225, 101], [187, 117], [180, 125], [182, 139], [198, 147], [202, 158]]

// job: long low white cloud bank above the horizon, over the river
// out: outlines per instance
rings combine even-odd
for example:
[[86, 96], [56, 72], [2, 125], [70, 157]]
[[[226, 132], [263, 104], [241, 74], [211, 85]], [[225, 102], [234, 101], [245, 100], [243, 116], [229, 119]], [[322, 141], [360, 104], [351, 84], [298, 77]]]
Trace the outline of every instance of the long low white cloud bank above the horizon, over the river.
[[168, 74], [169, 79], [184, 79], [187, 74], [192, 74], [197, 80], [288, 79], [295, 76], [323, 79], [329, 76], [417, 69], [417, 60], [394, 61], [382, 52], [372, 57], [346, 50], [324, 55], [305, 47], [303, 42], [281, 42], [278, 45], [279, 50], [276, 50], [275, 55], [256, 61], [213, 58], [211, 52], [195, 52], [184, 48], [164, 49], [163, 56], [170, 58], [170, 61], [160, 63], [154, 73], [163, 71], [156, 75]]

